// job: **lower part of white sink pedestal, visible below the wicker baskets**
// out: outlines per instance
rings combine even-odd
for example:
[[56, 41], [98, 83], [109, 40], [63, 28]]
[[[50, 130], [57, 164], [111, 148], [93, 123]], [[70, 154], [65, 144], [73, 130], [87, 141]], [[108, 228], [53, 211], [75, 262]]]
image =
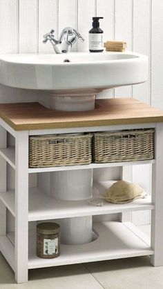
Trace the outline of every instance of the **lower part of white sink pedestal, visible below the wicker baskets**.
[[[50, 175], [51, 196], [73, 201], [90, 199], [93, 190], [92, 170], [68, 170]], [[81, 244], [92, 241], [92, 217], [73, 217], [59, 220], [61, 243]]]

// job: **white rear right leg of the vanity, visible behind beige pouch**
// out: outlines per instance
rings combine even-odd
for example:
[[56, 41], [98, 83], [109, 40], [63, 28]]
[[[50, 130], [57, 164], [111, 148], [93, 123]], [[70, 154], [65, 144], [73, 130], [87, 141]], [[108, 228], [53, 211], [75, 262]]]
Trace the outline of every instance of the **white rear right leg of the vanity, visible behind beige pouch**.
[[[123, 166], [122, 167], [122, 179], [124, 181], [132, 181], [132, 166]], [[132, 213], [131, 212], [120, 213], [120, 221], [122, 223], [130, 222], [131, 219], [132, 219]]]

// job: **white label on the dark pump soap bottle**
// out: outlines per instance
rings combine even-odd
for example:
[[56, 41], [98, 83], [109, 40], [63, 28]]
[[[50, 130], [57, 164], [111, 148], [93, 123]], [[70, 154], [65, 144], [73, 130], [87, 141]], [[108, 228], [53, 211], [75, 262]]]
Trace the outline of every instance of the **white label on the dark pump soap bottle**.
[[90, 50], [104, 49], [102, 33], [89, 33], [89, 49]]

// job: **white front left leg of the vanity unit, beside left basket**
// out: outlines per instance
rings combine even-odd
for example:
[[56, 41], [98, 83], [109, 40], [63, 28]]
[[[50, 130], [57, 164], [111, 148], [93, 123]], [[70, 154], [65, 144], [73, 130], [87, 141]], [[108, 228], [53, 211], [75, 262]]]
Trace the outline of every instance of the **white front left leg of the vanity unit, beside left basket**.
[[15, 139], [15, 279], [28, 281], [28, 131]]

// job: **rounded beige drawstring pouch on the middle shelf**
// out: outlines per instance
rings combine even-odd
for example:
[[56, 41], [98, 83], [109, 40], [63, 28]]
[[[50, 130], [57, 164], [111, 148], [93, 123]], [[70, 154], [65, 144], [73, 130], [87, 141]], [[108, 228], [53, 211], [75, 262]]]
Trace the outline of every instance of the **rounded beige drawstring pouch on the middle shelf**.
[[144, 198], [144, 189], [135, 183], [117, 181], [106, 190], [104, 199], [110, 203], [129, 203], [135, 199]]

